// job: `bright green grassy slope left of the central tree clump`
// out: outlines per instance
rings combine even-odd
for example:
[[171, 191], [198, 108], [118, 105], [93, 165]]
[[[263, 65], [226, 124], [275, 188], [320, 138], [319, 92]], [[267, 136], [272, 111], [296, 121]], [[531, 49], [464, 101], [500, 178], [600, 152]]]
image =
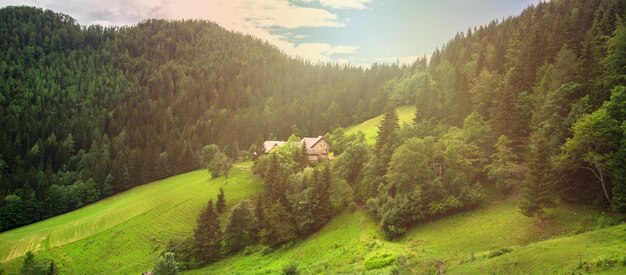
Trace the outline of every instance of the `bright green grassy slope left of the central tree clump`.
[[150, 270], [167, 241], [191, 234], [199, 210], [224, 187], [227, 206], [262, 190], [251, 163], [228, 180], [194, 171], [139, 186], [79, 210], [0, 233], [0, 268], [17, 271], [28, 250], [57, 261], [64, 273]]

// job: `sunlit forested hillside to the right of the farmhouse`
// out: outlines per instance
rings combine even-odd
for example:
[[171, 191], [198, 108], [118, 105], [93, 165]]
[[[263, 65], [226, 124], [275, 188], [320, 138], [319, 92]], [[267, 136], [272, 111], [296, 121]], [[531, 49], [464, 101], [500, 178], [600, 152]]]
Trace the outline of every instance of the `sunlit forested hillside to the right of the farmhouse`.
[[[337, 170], [390, 238], [475, 207], [485, 185], [540, 224], [560, 201], [626, 211], [625, 15], [625, 1], [550, 1], [459, 33], [385, 84], [372, 150], [333, 132]], [[393, 107], [413, 102], [400, 128]]]

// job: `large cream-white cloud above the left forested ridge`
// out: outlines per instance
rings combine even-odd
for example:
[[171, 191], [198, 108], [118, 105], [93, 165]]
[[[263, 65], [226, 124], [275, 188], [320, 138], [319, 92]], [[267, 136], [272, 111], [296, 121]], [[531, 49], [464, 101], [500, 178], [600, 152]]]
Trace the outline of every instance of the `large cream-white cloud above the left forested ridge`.
[[[369, 0], [320, 0], [333, 8], [361, 8]], [[66, 13], [80, 24], [132, 25], [150, 18], [207, 19], [222, 27], [266, 40], [291, 56], [314, 62], [332, 61], [334, 54], [356, 52], [358, 47], [323, 43], [296, 45], [293, 34], [272, 29], [342, 27], [338, 16], [324, 8], [302, 7], [287, 0], [0, 0], [0, 6], [32, 5]]]

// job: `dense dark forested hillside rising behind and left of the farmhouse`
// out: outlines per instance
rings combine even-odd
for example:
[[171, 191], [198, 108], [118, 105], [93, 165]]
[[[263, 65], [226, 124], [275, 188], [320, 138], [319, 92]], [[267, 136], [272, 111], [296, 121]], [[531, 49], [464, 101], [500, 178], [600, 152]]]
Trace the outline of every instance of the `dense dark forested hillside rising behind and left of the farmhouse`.
[[398, 66], [314, 65], [207, 21], [80, 26], [0, 9], [0, 230], [380, 113]]

